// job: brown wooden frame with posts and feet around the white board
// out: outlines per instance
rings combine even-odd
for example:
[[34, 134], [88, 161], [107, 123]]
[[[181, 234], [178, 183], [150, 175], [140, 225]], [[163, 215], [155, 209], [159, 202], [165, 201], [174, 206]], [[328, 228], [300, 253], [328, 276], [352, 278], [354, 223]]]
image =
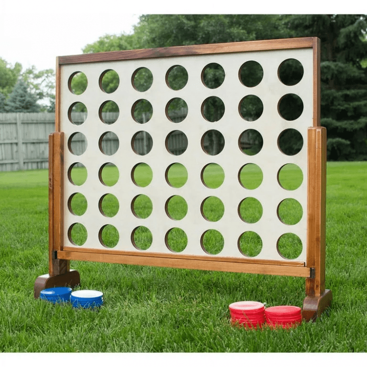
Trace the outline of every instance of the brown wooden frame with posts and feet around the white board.
[[[60, 128], [61, 69], [65, 65], [106, 61], [166, 58], [172, 56], [236, 53], [291, 48], [313, 50], [313, 125], [308, 128], [307, 150], [307, 253], [306, 261], [278, 261], [220, 256], [196, 256], [154, 252], [128, 252], [71, 248], [64, 245], [64, 132]], [[294, 38], [227, 44], [177, 46], [63, 56], [56, 65], [56, 122], [49, 137], [49, 269], [37, 278], [34, 297], [53, 286], [80, 284], [79, 273], [70, 270], [70, 260], [149, 265], [224, 272], [305, 277], [304, 320], [315, 320], [331, 305], [332, 294], [325, 290], [325, 200], [326, 129], [320, 126], [320, 40]]]

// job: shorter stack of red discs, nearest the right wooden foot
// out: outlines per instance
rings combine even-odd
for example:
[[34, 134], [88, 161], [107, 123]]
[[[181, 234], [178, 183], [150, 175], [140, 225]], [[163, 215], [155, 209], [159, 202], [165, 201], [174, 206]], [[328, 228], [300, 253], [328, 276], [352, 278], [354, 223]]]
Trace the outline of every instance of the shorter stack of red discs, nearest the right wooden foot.
[[297, 306], [274, 306], [265, 309], [266, 323], [270, 327], [288, 329], [302, 322], [301, 309]]

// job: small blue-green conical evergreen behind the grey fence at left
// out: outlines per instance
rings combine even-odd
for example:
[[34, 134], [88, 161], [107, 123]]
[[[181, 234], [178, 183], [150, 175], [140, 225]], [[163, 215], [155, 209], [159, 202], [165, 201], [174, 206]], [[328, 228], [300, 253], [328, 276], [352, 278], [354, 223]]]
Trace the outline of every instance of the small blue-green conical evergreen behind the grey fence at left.
[[21, 78], [9, 94], [5, 104], [6, 112], [39, 112], [37, 96], [29, 92], [28, 86]]

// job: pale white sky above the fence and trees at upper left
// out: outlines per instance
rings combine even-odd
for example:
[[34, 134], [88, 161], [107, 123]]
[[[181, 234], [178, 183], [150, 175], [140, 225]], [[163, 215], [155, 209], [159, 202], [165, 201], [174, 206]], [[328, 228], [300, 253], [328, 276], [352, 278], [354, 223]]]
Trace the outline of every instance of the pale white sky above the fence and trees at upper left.
[[57, 56], [81, 54], [106, 34], [132, 33], [139, 13], [125, 1], [0, 0], [0, 58], [23, 70], [55, 69]]

